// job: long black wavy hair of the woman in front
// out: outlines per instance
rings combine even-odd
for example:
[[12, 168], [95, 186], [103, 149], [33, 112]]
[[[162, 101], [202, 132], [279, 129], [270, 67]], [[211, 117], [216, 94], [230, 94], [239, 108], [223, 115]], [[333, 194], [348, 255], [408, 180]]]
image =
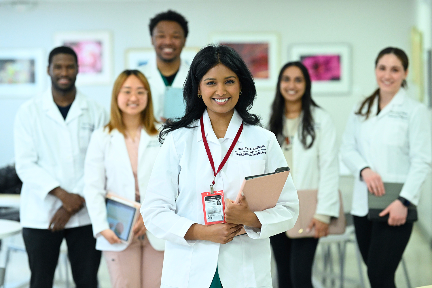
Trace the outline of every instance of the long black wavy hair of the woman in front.
[[186, 107], [184, 116], [177, 119], [170, 118], [165, 122], [159, 134], [159, 142], [162, 143], [165, 136], [174, 130], [182, 127], [196, 127], [192, 127], [191, 123], [200, 119], [207, 108], [203, 98], [198, 98], [197, 96], [198, 87], [203, 76], [217, 64], [222, 64], [232, 70], [240, 81], [241, 95], [238, 98], [237, 104], [235, 104], [235, 109], [240, 114], [243, 122], [249, 125], [261, 125], [260, 117], [249, 112], [257, 97], [257, 90], [255, 89], [252, 73], [245, 61], [231, 47], [210, 44], [198, 51], [187, 73], [183, 86], [183, 101]]

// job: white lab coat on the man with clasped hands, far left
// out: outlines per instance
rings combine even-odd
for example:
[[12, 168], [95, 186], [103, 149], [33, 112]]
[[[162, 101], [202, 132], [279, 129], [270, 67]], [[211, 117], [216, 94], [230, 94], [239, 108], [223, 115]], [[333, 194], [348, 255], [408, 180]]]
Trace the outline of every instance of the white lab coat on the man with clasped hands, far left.
[[[83, 196], [84, 158], [94, 129], [108, 122], [105, 109], [80, 92], [66, 120], [54, 103], [51, 89], [19, 108], [14, 127], [15, 168], [22, 180], [22, 227], [48, 229], [60, 199], [48, 194], [56, 187]], [[90, 224], [86, 205], [65, 228]]]

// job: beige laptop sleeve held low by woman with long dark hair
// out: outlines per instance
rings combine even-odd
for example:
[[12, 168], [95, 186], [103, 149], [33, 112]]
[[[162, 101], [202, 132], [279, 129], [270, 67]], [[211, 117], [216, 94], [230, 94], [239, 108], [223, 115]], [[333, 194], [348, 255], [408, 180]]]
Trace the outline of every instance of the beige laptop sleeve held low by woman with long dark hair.
[[[318, 190], [298, 190], [300, 213], [297, 222], [292, 229], [286, 231], [286, 236], [289, 238], [305, 238], [314, 237], [315, 228], [306, 232], [309, 224], [314, 218], [317, 209]], [[328, 234], [343, 234], [345, 232], [346, 220], [345, 212], [343, 211], [342, 194], [339, 191], [340, 208], [339, 218], [333, 218], [330, 221]]]

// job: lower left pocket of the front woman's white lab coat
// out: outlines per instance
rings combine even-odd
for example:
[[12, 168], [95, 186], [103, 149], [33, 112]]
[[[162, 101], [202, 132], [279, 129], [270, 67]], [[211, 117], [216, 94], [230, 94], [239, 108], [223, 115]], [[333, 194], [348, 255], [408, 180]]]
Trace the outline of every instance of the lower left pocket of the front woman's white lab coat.
[[[191, 271], [194, 246], [165, 242], [165, 253], [162, 268], [162, 284], [187, 288]], [[173, 274], [175, 271], [175, 274]]]

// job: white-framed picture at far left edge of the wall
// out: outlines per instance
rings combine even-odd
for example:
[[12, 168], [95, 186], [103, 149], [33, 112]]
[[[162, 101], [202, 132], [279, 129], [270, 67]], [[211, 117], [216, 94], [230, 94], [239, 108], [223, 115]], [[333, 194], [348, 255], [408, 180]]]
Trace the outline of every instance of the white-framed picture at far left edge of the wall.
[[0, 49], [0, 96], [29, 97], [42, 92], [47, 64], [42, 49]]

